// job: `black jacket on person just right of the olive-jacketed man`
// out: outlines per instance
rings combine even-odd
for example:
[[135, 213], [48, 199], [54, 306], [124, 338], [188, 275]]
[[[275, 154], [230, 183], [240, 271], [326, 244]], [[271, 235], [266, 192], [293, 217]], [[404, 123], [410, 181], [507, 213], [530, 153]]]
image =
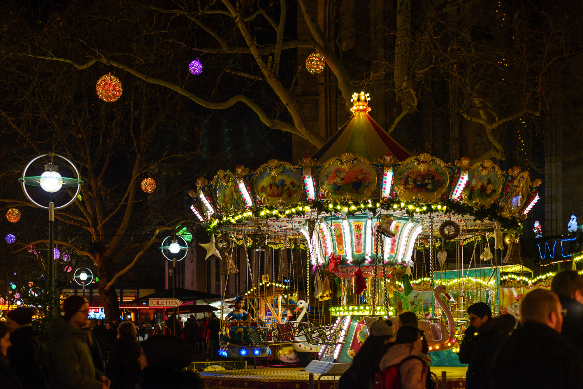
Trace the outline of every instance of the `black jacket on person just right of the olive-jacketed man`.
[[131, 335], [121, 337], [107, 360], [106, 376], [110, 389], [135, 388], [140, 381], [140, 344]]

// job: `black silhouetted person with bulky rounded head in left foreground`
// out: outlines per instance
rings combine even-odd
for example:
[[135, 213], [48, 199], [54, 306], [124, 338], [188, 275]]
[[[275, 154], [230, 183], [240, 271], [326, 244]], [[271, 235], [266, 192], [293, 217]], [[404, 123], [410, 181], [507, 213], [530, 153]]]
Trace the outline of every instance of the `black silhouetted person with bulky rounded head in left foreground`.
[[185, 371], [194, 352], [182, 338], [155, 335], [142, 342], [139, 365], [142, 380], [138, 389], [202, 389], [198, 374]]

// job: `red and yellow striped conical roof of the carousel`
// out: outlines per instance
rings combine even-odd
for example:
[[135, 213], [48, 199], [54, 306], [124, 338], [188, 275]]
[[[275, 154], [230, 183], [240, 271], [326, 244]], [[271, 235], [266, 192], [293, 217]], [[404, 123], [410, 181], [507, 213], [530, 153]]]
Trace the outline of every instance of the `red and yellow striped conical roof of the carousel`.
[[369, 161], [374, 161], [385, 153], [392, 153], [399, 161], [411, 156], [367, 112], [355, 112], [312, 158], [324, 163], [342, 153], [360, 155]]

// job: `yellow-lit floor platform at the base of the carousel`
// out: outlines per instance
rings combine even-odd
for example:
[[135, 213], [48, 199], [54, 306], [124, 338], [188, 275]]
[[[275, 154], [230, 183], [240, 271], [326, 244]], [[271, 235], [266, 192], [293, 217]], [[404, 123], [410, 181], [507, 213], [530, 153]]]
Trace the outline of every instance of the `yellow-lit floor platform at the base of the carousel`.
[[[437, 388], [443, 388], [442, 379], [448, 389], [466, 387], [467, 367], [431, 366], [431, 372], [437, 375]], [[444, 374], [445, 372], [445, 374]], [[220, 370], [219, 372], [201, 372], [201, 378], [208, 389], [308, 389], [310, 373], [303, 367], [273, 368], [265, 367], [247, 370]], [[321, 388], [335, 388], [340, 376], [324, 376], [320, 380]], [[318, 374], [314, 374], [314, 388], [318, 388]]]

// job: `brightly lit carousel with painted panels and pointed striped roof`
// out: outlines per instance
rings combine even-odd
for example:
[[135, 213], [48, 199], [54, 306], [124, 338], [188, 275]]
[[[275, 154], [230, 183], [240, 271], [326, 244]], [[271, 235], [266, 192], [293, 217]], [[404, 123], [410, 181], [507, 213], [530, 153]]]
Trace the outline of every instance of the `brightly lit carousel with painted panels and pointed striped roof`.
[[[484, 301], [500, 312], [495, 285], [504, 268], [521, 266], [517, 236], [541, 181], [489, 160], [449, 165], [412, 155], [371, 118], [369, 100], [354, 94], [349, 121], [297, 165], [240, 165], [210, 181], [198, 178], [189, 191], [223, 268], [238, 271], [231, 254], [243, 246], [252, 274], [250, 290], [223, 323], [223, 356], [263, 356], [278, 345], [351, 362], [368, 324], [385, 317], [396, 327], [403, 310], [417, 313], [430, 352], [455, 351], [466, 305]], [[225, 241], [230, 252], [221, 249]], [[464, 247], [472, 246], [464, 259]], [[251, 268], [247, 253], [265, 247], [305, 252], [303, 290], [265, 281]], [[455, 270], [444, 266], [446, 250]], [[287, 320], [282, 300], [300, 313]], [[312, 324], [307, 312], [322, 301], [331, 319]]]

